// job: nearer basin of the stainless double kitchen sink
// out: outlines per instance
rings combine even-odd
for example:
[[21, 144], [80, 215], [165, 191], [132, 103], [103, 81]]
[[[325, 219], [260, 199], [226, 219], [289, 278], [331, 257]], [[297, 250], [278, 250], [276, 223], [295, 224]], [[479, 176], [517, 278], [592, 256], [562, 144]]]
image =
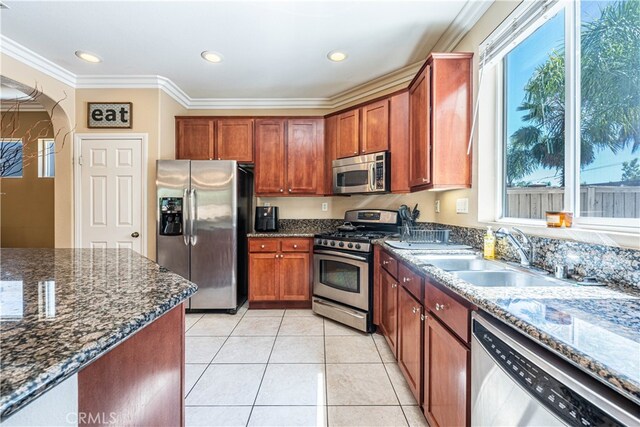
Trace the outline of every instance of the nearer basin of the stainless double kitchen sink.
[[570, 286], [569, 283], [551, 277], [540, 277], [518, 271], [456, 271], [452, 272], [452, 274], [465, 282], [482, 287], [527, 288]]

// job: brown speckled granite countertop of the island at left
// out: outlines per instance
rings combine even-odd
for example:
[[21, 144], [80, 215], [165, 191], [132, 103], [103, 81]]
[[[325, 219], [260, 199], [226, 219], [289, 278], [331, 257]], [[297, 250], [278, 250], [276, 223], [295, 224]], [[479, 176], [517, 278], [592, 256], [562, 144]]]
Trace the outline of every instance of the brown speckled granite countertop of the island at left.
[[196, 290], [129, 249], [0, 249], [0, 419]]

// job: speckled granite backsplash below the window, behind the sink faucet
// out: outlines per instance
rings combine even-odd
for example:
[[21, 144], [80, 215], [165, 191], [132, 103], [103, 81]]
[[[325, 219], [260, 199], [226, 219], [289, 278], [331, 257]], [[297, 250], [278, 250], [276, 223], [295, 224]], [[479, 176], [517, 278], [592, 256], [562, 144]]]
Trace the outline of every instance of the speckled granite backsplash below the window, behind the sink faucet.
[[[451, 230], [450, 240], [482, 249], [485, 228], [460, 227], [449, 224], [422, 223], [429, 228]], [[632, 286], [640, 289], [640, 251], [614, 246], [595, 245], [572, 240], [528, 236], [533, 243], [535, 267], [553, 271], [556, 264], [573, 266], [574, 279], [595, 277], [599, 282]], [[520, 261], [520, 257], [505, 239], [498, 239], [496, 256], [507, 261]]]

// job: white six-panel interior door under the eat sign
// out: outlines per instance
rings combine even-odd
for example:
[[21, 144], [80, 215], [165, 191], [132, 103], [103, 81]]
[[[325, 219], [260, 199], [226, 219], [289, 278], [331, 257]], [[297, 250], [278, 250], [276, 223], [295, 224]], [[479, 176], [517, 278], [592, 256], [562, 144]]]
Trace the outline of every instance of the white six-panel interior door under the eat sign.
[[80, 246], [143, 253], [143, 144], [140, 139], [79, 141]]

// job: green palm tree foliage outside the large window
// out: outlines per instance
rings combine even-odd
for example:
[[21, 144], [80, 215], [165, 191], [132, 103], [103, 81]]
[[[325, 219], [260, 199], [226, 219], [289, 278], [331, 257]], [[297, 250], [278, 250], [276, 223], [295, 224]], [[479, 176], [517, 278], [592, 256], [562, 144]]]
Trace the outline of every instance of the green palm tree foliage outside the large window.
[[[582, 24], [580, 163], [601, 150], [640, 148], [640, 1], [618, 1]], [[527, 124], [509, 138], [507, 182], [542, 166], [564, 185], [565, 56], [552, 51], [525, 87], [518, 107]]]

